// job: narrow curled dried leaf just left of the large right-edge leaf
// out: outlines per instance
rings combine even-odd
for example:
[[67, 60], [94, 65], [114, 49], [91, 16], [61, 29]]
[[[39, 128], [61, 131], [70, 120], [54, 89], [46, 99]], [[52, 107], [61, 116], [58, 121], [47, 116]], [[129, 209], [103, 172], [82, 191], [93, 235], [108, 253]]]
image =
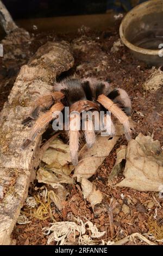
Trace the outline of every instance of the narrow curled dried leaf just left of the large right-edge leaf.
[[126, 145], [122, 145], [120, 148], [118, 148], [116, 150], [117, 159], [116, 159], [116, 163], [115, 163], [114, 167], [112, 168], [112, 171], [109, 175], [109, 180], [113, 179], [114, 176], [116, 176], [122, 172], [123, 162], [124, 162], [124, 160], [126, 160], [126, 150], [127, 150]]

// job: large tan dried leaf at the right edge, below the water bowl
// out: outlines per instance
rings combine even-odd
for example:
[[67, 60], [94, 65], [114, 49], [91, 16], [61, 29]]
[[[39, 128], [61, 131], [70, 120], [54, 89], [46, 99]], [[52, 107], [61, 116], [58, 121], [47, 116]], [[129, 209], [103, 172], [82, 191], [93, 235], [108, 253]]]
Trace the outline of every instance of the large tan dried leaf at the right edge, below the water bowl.
[[163, 184], [163, 153], [159, 141], [140, 133], [128, 143], [125, 179], [116, 186], [139, 191], [160, 191]]

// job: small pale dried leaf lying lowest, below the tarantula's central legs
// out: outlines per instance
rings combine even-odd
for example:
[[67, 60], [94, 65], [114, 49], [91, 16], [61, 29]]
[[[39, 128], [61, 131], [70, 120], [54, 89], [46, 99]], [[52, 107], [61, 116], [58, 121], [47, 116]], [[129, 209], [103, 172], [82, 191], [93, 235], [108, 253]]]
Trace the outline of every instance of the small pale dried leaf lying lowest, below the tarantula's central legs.
[[85, 178], [82, 179], [82, 192], [84, 198], [91, 203], [93, 209], [96, 204], [102, 202], [103, 197], [101, 191], [96, 190], [96, 186]]

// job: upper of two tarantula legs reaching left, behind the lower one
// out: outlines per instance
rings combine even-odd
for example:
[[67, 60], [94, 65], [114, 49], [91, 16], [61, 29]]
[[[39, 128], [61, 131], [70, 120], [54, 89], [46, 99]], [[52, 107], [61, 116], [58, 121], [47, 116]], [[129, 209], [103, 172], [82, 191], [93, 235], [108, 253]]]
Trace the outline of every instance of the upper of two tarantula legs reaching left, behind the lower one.
[[22, 121], [22, 124], [27, 125], [30, 121], [35, 120], [41, 110], [49, 108], [55, 101], [61, 100], [62, 98], [64, 98], [62, 92], [52, 92], [51, 94], [40, 97], [32, 103], [33, 110], [29, 114], [29, 117]]

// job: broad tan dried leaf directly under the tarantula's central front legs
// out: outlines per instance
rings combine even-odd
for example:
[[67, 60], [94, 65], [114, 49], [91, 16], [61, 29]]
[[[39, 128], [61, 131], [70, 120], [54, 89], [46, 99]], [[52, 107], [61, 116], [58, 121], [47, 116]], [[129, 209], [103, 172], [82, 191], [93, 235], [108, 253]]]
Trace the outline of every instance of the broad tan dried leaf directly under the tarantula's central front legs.
[[117, 135], [112, 139], [109, 136], [102, 137], [97, 136], [96, 142], [92, 148], [88, 149], [86, 145], [80, 150], [79, 163], [74, 169], [73, 177], [77, 177], [78, 182], [82, 178], [89, 179], [96, 173], [97, 168], [102, 164], [105, 157], [110, 154], [112, 148], [114, 148], [116, 142], [123, 134], [122, 126], [116, 126]]

